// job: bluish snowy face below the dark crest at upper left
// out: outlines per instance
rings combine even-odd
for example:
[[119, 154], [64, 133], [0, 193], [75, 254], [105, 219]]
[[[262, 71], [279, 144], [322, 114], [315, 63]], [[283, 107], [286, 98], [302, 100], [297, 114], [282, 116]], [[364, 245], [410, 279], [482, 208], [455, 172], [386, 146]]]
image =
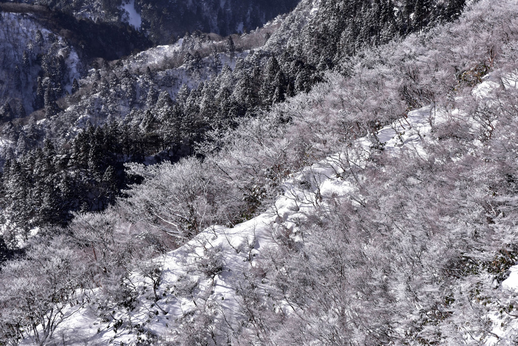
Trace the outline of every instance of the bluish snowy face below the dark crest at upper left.
[[22, 105], [24, 113], [31, 113], [39, 75], [46, 83], [50, 79], [56, 91], [71, 91], [74, 78], [79, 78], [81, 72], [74, 47], [42, 26], [33, 15], [2, 12], [0, 22], [0, 104], [10, 102], [12, 109]]

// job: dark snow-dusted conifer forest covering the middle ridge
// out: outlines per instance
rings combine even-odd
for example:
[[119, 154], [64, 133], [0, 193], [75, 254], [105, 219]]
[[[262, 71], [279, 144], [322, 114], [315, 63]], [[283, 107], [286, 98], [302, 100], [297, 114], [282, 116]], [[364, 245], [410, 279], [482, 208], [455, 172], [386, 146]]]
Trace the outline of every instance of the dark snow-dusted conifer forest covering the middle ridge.
[[[268, 47], [276, 47], [279, 37], [292, 35], [289, 27], [281, 27], [270, 39], [273, 42], [268, 41], [265, 49], [258, 49], [246, 59], [233, 57], [236, 45], [232, 37], [223, 40], [221, 45], [207, 46], [203, 43], [207, 40], [204, 35], [187, 35], [177, 56], [184, 64], [186, 77], [198, 81], [193, 88], [183, 84], [175, 93], [167, 90], [164, 81], [170, 77], [170, 66], [154, 66], [153, 70], [146, 66], [135, 71], [124, 62], [113, 66], [105, 63], [94, 69], [83, 88], [77, 80], [72, 83], [71, 91], [75, 93], [67, 101], [72, 107], [64, 112], [56, 101], [65, 92], [66, 79], [62, 75], [66, 68], [63, 57], [49, 51], [49, 59], [55, 61], [42, 63], [44, 73], [37, 79], [33, 106], [36, 110], [44, 109], [50, 124], [41, 126], [32, 120], [31, 125], [23, 129], [11, 123], [3, 129], [13, 143], [11, 149], [4, 148], [3, 153], [3, 161], [9, 166], [3, 177], [9, 194], [5, 209], [18, 210], [9, 219], [15, 224], [23, 224], [26, 233], [28, 229], [49, 224], [49, 221], [64, 224], [69, 220], [70, 212], [104, 209], [128, 183], [122, 166], [125, 162], [143, 162], [153, 155], [159, 155], [158, 160], [178, 160], [191, 154], [203, 157], [208, 146], [211, 150], [219, 148], [214, 137], [234, 128], [239, 119], [256, 117], [287, 97], [308, 92], [312, 85], [323, 80], [326, 70], [343, 69], [349, 57], [362, 47], [379, 45], [394, 35], [419, 32], [429, 23], [454, 19], [463, 3], [451, 2], [443, 7], [430, 3], [424, 9], [419, 6], [402, 3], [396, 7], [393, 3], [377, 2], [322, 4], [303, 32], [290, 39], [285, 48]], [[411, 20], [396, 16], [396, 10], [407, 9], [408, 17], [418, 8], [425, 11], [419, 18]], [[385, 15], [379, 16], [377, 11]], [[347, 12], [366, 14], [361, 18], [340, 15]], [[297, 12], [292, 15], [295, 19], [287, 21], [300, 20], [296, 15]], [[373, 23], [372, 19], [377, 22]], [[363, 34], [350, 35], [351, 30], [358, 27], [364, 28]], [[39, 41], [44, 39], [40, 37]], [[200, 51], [206, 52], [204, 59]], [[234, 69], [226, 63], [221, 64], [221, 54], [228, 54]], [[343, 73], [347, 74], [347, 71]], [[174, 83], [179, 85], [178, 80]], [[409, 105], [414, 106], [410, 101]], [[90, 114], [88, 122], [92, 126], [82, 125], [81, 130], [88, 134], [69, 138], [70, 128], [77, 126], [83, 113]], [[9, 185], [15, 186], [16, 179], [35, 179], [31, 170], [34, 170], [36, 157], [41, 155], [36, 151], [41, 149], [34, 147], [44, 147], [41, 138], [46, 138], [54, 147], [44, 154], [49, 161], [45, 174], [49, 175], [49, 181], [61, 181], [61, 188], [52, 194], [56, 198], [56, 203], [51, 203], [53, 208], [35, 209], [35, 205], [47, 204], [44, 196], [50, 192], [13, 194], [9, 191], [19, 189]], [[10, 161], [16, 164], [11, 165]], [[11, 166], [23, 174], [11, 171]], [[54, 189], [53, 183], [47, 186]], [[27, 198], [28, 195], [33, 197]]]

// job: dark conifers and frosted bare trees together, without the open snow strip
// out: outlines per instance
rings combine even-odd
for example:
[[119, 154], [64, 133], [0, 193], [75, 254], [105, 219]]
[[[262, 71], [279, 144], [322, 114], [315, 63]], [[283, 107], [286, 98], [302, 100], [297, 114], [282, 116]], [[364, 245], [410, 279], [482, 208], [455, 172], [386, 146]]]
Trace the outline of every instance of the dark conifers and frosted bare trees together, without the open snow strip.
[[[374, 143], [369, 164], [340, 177], [355, 182], [348, 198], [316, 203], [296, 226], [302, 240], [279, 236], [236, 277], [242, 319], [222, 322], [203, 295], [210, 287], [175, 286], [196, 308], [171, 322], [170, 344], [494, 337], [487, 315], [515, 314], [514, 296], [494, 285], [518, 258], [516, 90], [504, 81], [516, 68], [516, 6], [480, 1], [460, 20], [464, 1], [313, 6], [258, 31], [268, 37], [253, 50], [246, 35], [214, 43], [195, 32], [161, 66], [100, 60], [64, 98], [55, 70], [66, 68], [49, 53], [34, 88], [45, 121], [17, 123], [16, 107], [0, 109], [0, 344], [52, 344], [64, 311], [88, 305], [115, 334], [166, 344], [114, 318], [141, 304], [132, 272], [160, 307], [168, 293], [151, 258], [211, 225], [250, 220], [295, 172], [429, 105], [448, 122], [431, 125], [423, 152], [393, 157]], [[480, 99], [472, 90], [487, 73], [502, 87]], [[223, 259], [205, 250], [193, 276], [213, 279]]]

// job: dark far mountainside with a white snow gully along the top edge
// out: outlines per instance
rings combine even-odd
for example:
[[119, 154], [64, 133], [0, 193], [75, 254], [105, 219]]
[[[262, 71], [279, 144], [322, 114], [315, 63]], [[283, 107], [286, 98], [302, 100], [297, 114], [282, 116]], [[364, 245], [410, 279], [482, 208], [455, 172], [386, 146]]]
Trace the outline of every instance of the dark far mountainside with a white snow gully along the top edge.
[[[32, 0], [27, 0], [33, 3]], [[135, 0], [123, 1], [36, 0], [38, 5], [60, 9], [76, 17], [104, 22], [128, 21], [128, 11], [140, 16], [140, 30], [155, 44], [176, 41], [196, 30], [223, 36], [254, 30], [281, 13], [289, 12], [298, 0]]]

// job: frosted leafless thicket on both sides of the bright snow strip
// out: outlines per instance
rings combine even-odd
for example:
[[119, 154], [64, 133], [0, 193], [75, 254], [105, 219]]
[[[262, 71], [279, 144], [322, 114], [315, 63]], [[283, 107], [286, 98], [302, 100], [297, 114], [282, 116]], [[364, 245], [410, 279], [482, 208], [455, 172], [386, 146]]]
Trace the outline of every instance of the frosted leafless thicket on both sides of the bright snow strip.
[[[477, 343], [490, 336], [487, 311], [500, 305], [506, 307], [502, 314], [514, 313], [508, 309], [513, 301], [498, 297], [493, 279], [501, 281], [515, 260], [516, 91], [502, 87], [480, 100], [471, 90], [488, 71], [505, 77], [516, 68], [516, 14], [510, 3], [480, 2], [458, 22], [337, 60], [343, 75], [328, 73], [311, 91], [286, 95], [282, 103], [266, 98], [267, 107], [256, 110], [260, 117], [232, 118], [230, 131], [211, 123], [207, 140], [197, 147], [203, 161], [131, 165], [143, 182], [127, 199], [104, 212], [78, 214], [65, 228], [43, 229], [24, 258], [2, 268], [2, 337], [16, 344], [23, 334], [44, 344], [53, 329], [40, 334], [35, 326], [61, 316], [59, 305], [48, 307], [55, 300], [83, 304], [93, 289], [100, 293], [91, 303], [104, 318], [109, 320], [113, 307], [131, 311], [138, 292], [130, 272], [143, 270], [155, 280], [160, 272], [142, 268], [142, 261], [211, 224], [232, 226], [251, 218], [301, 167], [347, 150], [358, 137], [429, 104], [451, 114], [447, 124], [434, 126], [437, 140], [425, 148], [427, 155], [409, 149], [393, 157], [379, 148], [356, 172], [361, 179], [351, 197], [363, 203], [337, 199], [308, 215], [299, 226], [303, 242], [279, 243], [262, 258], [262, 278], [250, 273], [249, 282], [235, 287], [244, 304], [256, 307], [243, 305], [245, 315], [253, 314], [246, 315], [249, 323], [215, 325], [212, 312], [200, 308], [179, 329], [180, 339], [195, 344], [216, 333], [236, 344], [418, 344], [464, 342], [466, 334]], [[281, 69], [274, 59], [267, 65], [267, 71], [278, 68], [273, 80]], [[163, 107], [170, 111], [164, 114], [197, 105], [204, 92], [193, 89], [176, 104], [164, 95]], [[203, 119], [202, 110], [195, 114]], [[93, 178], [104, 179], [88, 160], [77, 165], [67, 168], [92, 170]], [[23, 276], [20, 266], [27, 268]], [[27, 281], [51, 275], [55, 266], [63, 278], [25, 289]], [[269, 297], [254, 285], [262, 279], [272, 287]], [[34, 304], [31, 299], [42, 308], [24, 308]], [[286, 299], [293, 313], [269, 308]]]

